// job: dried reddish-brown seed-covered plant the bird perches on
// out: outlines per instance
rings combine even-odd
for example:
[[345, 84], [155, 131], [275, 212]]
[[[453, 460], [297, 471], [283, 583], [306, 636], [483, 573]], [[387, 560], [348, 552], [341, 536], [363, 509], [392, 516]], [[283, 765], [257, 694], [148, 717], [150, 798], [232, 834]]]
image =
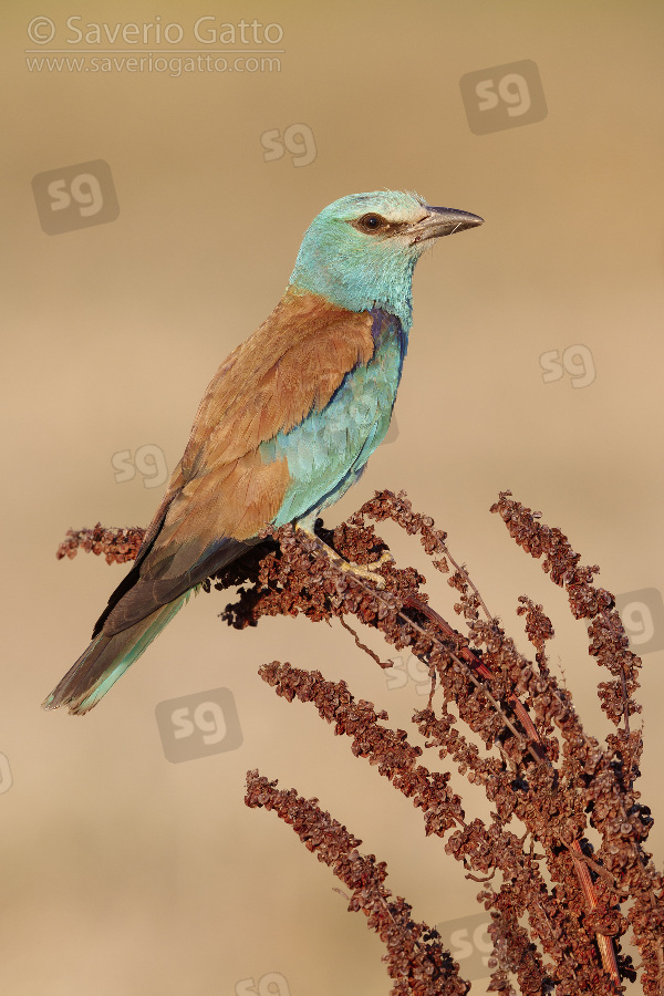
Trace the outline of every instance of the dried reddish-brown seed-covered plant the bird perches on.
[[[387, 714], [355, 701], [345, 682], [328, 682], [318, 671], [277, 661], [261, 667], [260, 675], [289, 702], [312, 703], [334, 724], [336, 735], [351, 737], [353, 754], [413, 800], [422, 810], [425, 833], [444, 838], [446, 853], [481, 884], [478, 900], [492, 919], [492, 990], [515, 993], [516, 985], [522, 994], [616, 994], [624, 992], [624, 979], [634, 982], [639, 975], [644, 994], [662, 996], [664, 881], [644, 849], [653, 820], [634, 787], [643, 743], [631, 717], [641, 710], [635, 699], [641, 662], [627, 649], [613, 595], [592, 583], [599, 569], [582, 567], [562, 532], [540, 522], [509, 491], [491, 511], [523, 550], [543, 558], [543, 570], [564, 587], [574, 618], [589, 622], [589, 653], [611, 675], [598, 687], [615, 728], [603, 743], [585, 732], [570, 692], [548, 665], [553, 627], [542, 606], [525, 595], [519, 599], [517, 612], [535, 647], [529, 661], [452, 557], [446, 535], [434, 529], [433, 519], [414, 512], [404, 492], [377, 492], [333, 531], [320, 526], [319, 535], [347, 561], [366, 564], [386, 550], [367, 519], [390, 518], [407, 533], [418, 533], [435, 567], [449, 573], [467, 635], [429, 606], [424, 578], [415, 569], [383, 564], [384, 589], [378, 590], [342, 571], [315, 540], [290, 526], [266, 530], [262, 543], [204, 588], [240, 585], [237, 601], [224, 612], [238, 629], [256, 625], [263, 615], [303, 613], [314, 622], [336, 616], [380, 666], [390, 666], [347, 624], [344, 616], [354, 615], [428, 666], [429, 699], [413, 723], [427, 748], [484, 788], [491, 803], [488, 823], [467, 821], [449, 774], [419, 764], [423, 751], [406, 732], [386, 726]], [[139, 538], [141, 530], [114, 532], [100, 526], [70, 531], [58, 556], [73, 557], [81, 546], [105, 553], [108, 562], [123, 561], [135, 556]], [[484, 753], [459, 732], [459, 720], [481, 739]], [[278, 789], [277, 782], [250, 771], [246, 802], [276, 810], [351, 890], [349, 909], [362, 910], [386, 945], [393, 994], [469, 989], [436, 931], [411, 920], [411, 906], [385, 889], [385, 864], [362, 855], [361, 841], [318, 800]], [[517, 827], [526, 832], [517, 836]], [[595, 847], [588, 840], [589, 828]], [[621, 951], [627, 931], [640, 952], [636, 966]]]

